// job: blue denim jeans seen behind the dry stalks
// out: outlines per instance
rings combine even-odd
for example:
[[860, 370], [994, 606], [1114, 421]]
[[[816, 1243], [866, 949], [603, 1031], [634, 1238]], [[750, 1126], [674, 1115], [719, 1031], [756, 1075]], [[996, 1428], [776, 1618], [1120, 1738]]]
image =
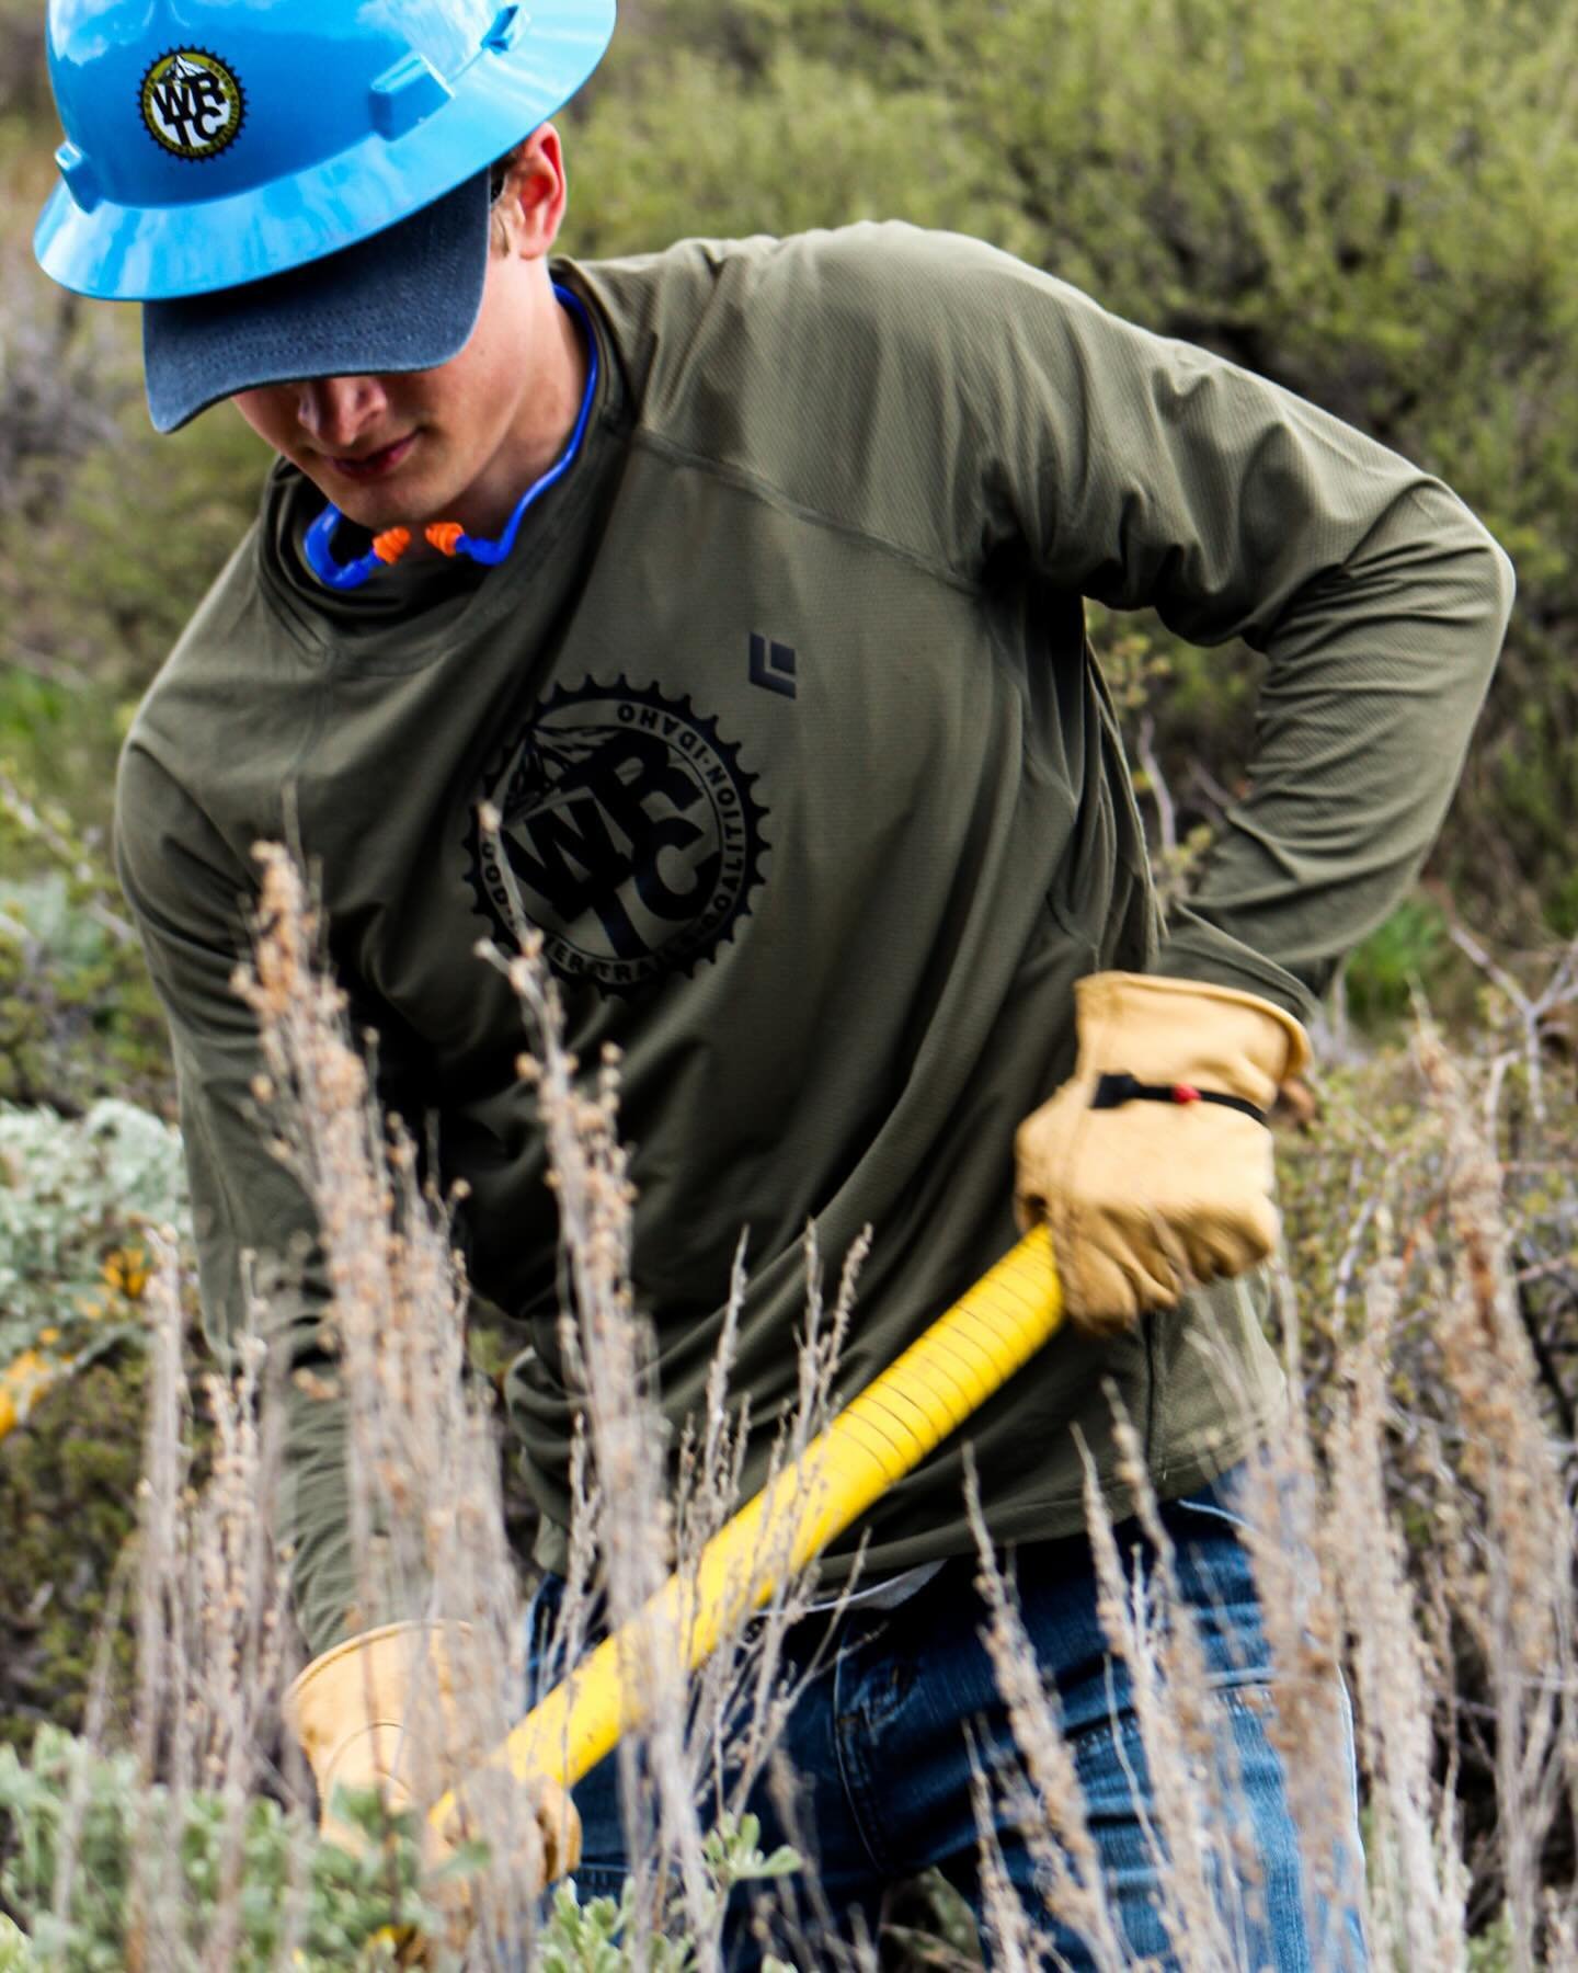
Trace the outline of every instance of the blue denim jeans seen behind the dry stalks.
[[[1270, 1667], [1249, 1559], [1231, 1511], [1231, 1476], [1170, 1501], [1162, 1519], [1178, 1547], [1182, 1598], [1193, 1608], [1209, 1675], [1221, 1693], [1247, 1831], [1258, 1853], [1260, 1894], [1243, 1900], [1251, 1906], [1245, 1965], [1256, 1973], [1266, 1967], [1359, 1973], [1365, 1955], [1353, 1912], [1320, 1914], [1322, 1937], [1316, 1943], [1308, 1937], [1282, 1766], [1266, 1738]], [[1144, 1567], [1150, 1549], [1136, 1523], [1120, 1527], [1118, 1541], [1130, 1571], [1136, 1559]], [[1012, 1551], [1010, 1569], [1038, 1663], [1057, 1691], [1063, 1736], [1085, 1790], [1091, 1835], [1126, 1951], [1132, 1959], [1176, 1965], [1156, 1908], [1156, 1863], [1142, 1825], [1150, 1797], [1144, 1748], [1128, 1673], [1109, 1655], [1097, 1620], [1089, 1545], [1083, 1537], [1022, 1543]], [[757, 1788], [759, 1799], [750, 1807], [761, 1815], [763, 1849], [795, 1841], [805, 1851], [811, 1837], [823, 1894], [844, 1937], [852, 1936], [856, 1912], [874, 1936], [884, 1890], [933, 1866], [980, 1916], [970, 1744], [990, 1770], [994, 1760], [1012, 1760], [1014, 1742], [980, 1642], [984, 1608], [974, 1574], [974, 1559], [959, 1557], [896, 1610], [848, 1610], [836, 1620], [832, 1638], [828, 1616], [809, 1616], [789, 1632], [785, 1655], [793, 1675], [817, 1653], [823, 1657], [781, 1740], [799, 1784], [799, 1829], [785, 1833], [765, 1788]], [[533, 1600], [533, 1683], [560, 1594], [562, 1582], [548, 1576]], [[533, 1697], [538, 1695], [533, 1691]], [[1351, 1778], [1351, 1732], [1347, 1758]], [[625, 1876], [617, 1758], [602, 1762], [576, 1788], [574, 1799], [584, 1827], [576, 1870], [580, 1894], [617, 1896]], [[1353, 1791], [1341, 1809], [1357, 1857]], [[1089, 1947], [1047, 1920], [1034, 1859], [1006, 1815], [998, 1815], [998, 1841], [1008, 1876], [1049, 1945], [1069, 1967], [1091, 1967]], [[732, 1967], [753, 1965], [759, 1955], [744, 1926], [734, 1928], [726, 1945]], [[799, 1951], [789, 1947], [785, 1957], [797, 1965], [828, 1963], [828, 1955], [807, 1961], [803, 1951], [803, 1945]]]

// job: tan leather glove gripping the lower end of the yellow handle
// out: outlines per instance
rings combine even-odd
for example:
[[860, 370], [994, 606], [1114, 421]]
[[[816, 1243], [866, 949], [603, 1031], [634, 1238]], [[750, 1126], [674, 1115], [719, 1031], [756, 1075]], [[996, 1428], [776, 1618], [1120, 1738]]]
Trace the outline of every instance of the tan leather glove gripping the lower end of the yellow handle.
[[[325, 1841], [353, 1855], [367, 1847], [361, 1829], [331, 1813], [335, 1788], [377, 1788], [396, 1813], [426, 1809], [489, 1752], [475, 1744], [475, 1730], [467, 1732], [458, 1703], [466, 1636], [466, 1624], [387, 1624], [316, 1657], [284, 1695], [284, 1722], [318, 1782]], [[580, 1863], [580, 1817], [546, 1776], [517, 1786], [540, 1835], [540, 1890]], [[424, 1827], [424, 1864], [436, 1870], [446, 1863], [462, 1833]], [[464, 1916], [464, 1886], [440, 1902]]]

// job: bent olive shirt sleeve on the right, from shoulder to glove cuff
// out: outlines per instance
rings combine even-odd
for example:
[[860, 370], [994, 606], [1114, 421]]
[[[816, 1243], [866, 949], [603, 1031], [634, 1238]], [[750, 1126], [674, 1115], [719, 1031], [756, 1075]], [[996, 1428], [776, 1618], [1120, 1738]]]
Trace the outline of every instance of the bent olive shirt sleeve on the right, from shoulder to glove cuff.
[[1438, 479], [1292, 393], [1006, 255], [955, 262], [986, 515], [955, 545], [976, 572], [1018, 545], [1059, 588], [1264, 655], [1247, 793], [1160, 971], [1308, 1018], [1442, 825], [1511, 562]]

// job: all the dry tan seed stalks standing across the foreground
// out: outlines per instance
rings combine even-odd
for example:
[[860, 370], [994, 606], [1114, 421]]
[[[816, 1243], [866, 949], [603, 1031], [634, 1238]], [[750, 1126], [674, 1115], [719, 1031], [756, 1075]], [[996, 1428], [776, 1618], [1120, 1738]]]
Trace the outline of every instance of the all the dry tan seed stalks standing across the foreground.
[[[345, 1030], [343, 1000], [320, 963], [308, 888], [280, 850], [262, 852], [262, 908], [252, 969], [241, 988], [258, 1020], [278, 1154], [316, 1206], [333, 1290], [331, 1385], [345, 1401], [351, 1541], [369, 1622], [387, 1616], [467, 1626], [464, 1705], [418, 1705], [412, 1778], [424, 1764], [464, 1764], [491, 1748], [521, 1711], [523, 1596], [503, 1539], [499, 1446], [489, 1405], [467, 1381], [467, 1288], [454, 1253], [450, 1206], [422, 1182], [410, 1134], [379, 1115], [369, 1071]], [[562, 1010], [540, 951], [493, 953], [521, 998], [535, 1087], [560, 1211], [564, 1353], [582, 1395], [572, 1492], [576, 1519], [558, 1661], [574, 1665], [596, 1630], [631, 1622], [625, 1677], [643, 1695], [643, 1724], [621, 1746], [635, 1894], [621, 1963], [663, 1961], [681, 1908], [696, 1963], [718, 1961], [722, 1900], [704, 1868], [704, 1839], [775, 1772], [777, 1736], [793, 1703], [785, 1636], [807, 1610], [809, 1578], [783, 1580], [769, 1529], [752, 1567], [775, 1588], [696, 1677], [679, 1673], [679, 1640], [641, 1620], [665, 1571], [694, 1567], [738, 1503], [748, 1407], [728, 1391], [746, 1253], [708, 1379], [706, 1415], [679, 1444], [663, 1438], [651, 1338], [631, 1290], [631, 1190], [617, 1133], [617, 1061], [594, 1075], [566, 1052]], [[1483, 1965], [1470, 1957], [1470, 1859], [1458, 1772], [1442, 1748], [1460, 1713], [1483, 1720], [1497, 1784], [1497, 1882], [1503, 1912], [1497, 1969], [1574, 1963], [1578, 1900], [1550, 1882], [1548, 1839], [1572, 1813], [1578, 1738], [1572, 1695], [1570, 1446], [1550, 1428], [1541, 1365], [1513, 1294], [1501, 1164], [1487, 1105], [1432, 1036], [1420, 1042], [1428, 1091], [1406, 1168], [1351, 1192], [1341, 1279], [1363, 1292], [1343, 1304], [1329, 1373], [1316, 1393], [1300, 1375], [1292, 1298], [1284, 1348], [1292, 1405], [1251, 1460], [1239, 1507], [1264, 1608], [1276, 1711], [1268, 1730], [1288, 1774], [1300, 1831], [1314, 1963], [1355, 1963], [1343, 1908], [1353, 1906], [1371, 1963], [1410, 1973]], [[1507, 1087], [1505, 1071], [1497, 1093]], [[1426, 1170], [1440, 1211], [1420, 1217], [1410, 1190]], [[1426, 1227], [1426, 1235], [1420, 1233]], [[858, 1249], [832, 1306], [823, 1263], [807, 1247], [801, 1389], [775, 1462], [795, 1458], [826, 1421]], [[138, 1851], [138, 1973], [235, 1963], [243, 1894], [245, 1805], [258, 1790], [296, 1799], [300, 1774], [270, 1764], [274, 1713], [296, 1669], [286, 1616], [288, 1557], [272, 1545], [282, 1393], [262, 1344], [237, 1340], [235, 1377], [207, 1387], [215, 1480], [189, 1486], [179, 1294], [168, 1269], [152, 1290], [158, 1314], [138, 1586], [140, 1685], [134, 1742], [144, 1774], [225, 1803], [221, 1898], [197, 1939], [181, 1937], [179, 1876], [170, 1845]], [[1424, 1310], [1424, 1316], [1420, 1314]], [[1428, 1318], [1438, 1387], [1416, 1409], [1397, 1363]], [[254, 1304], [252, 1330], [278, 1332], [278, 1308]], [[308, 1379], [312, 1385], [312, 1379]], [[296, 1393], [300, 1399], [304, 1393]], [[306, 1393], [312, 1401], [312, 1391]], [[1148, 1539], [1150, 1567], [1128, 1567], [1114, 1515], [1095, 1482], [1087, 1499], [1103, 1582], [1103, 1624], [1134, 1693], [1150, 1778], [1146, 1837], [1160, 1863], [1160, 1912], [1176, 1961], [1189, 1973], [1249, 1973], [1247, 1937], [1260, 1886], [1245, 1845], [1245, 1813], [1223, 1730], [1221, 1697], [1199, 1638], [1180, 1620], [1178, 1557], [1152, 1498], [1140, 1448], [1118, 1421], [1120, 1478]], [[671, 1490], [671, 1476], [679, 1486]], [[1400, 1478], [1402, 1476], [1402, 1478]], [[1404, 1513], [1406, 1509], [1406, 1521]], [[1432, 1531], [1420, 1561], [1420, 1517]], [[1012, 1572], [980, 1539], [986, 1647], [1020, 1748], [1018, 1772], [978, 1776], [982, 1890], [996, 1963], [1057, 1965], [1047, 1920], [1085, 1939], [1099, 1973], [1126, 1953], [1105, 1884], [1077, 1764], [1061, 1734], [1012, 1600]], [[1487, 1687], [1454, 1691], [1454, 1636], [1470, 1636]], [[1367, 1870], [1353, 1855], [1341, 1758], [1347, 1677], [1367, 1809]], [[511, 1791], [467, 1793], [469, 1833], [491, 1859], [477, 1880], [467, 1967], [533, 1963], [535, 1906], [521, 1872], [537, 1841]], [[1045, 1904], [1020, 1906], [994, 1827], [1018, 1823], [1040, 1866]], [[525, 1825], [525, 1827], [523, 1827]], [[1481, 1861], [1483, 1868], [1483, 1861]], [[292, 1872], [284, 1943], [302, 1936], [310, 1843]], [[71, 1863], [57, 1884], [69, 1900]], [[795, 1892], [817, 1912], [815, 1876]], [[787, 1908], [783, 1926], [799, 1924]], [[189, 1926], [185, 1928], [189, 1934]], [[176, 1949], [179, 1941], [179, 1949]], [[872, 1963], [858, 1943], [819, 1943], [805, 1965]], [[195, 1957], [193, 1957], [195, 1953]], [[1258, 1969], [1256, 1969], [1258, 1973]]]

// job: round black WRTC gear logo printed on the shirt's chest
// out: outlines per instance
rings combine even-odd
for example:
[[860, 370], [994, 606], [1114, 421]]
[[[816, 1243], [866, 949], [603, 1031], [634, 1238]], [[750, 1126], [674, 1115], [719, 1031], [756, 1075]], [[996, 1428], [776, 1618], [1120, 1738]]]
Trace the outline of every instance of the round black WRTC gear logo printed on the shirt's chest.
[[690, 973], [761, 882], [755, 779], [688, 698], [627, 679], [558, 687], [487, 775], [507, 868], [473, 821], [477, 902], [509, 951], [519, 900], [566, 981], [633, 992]]

